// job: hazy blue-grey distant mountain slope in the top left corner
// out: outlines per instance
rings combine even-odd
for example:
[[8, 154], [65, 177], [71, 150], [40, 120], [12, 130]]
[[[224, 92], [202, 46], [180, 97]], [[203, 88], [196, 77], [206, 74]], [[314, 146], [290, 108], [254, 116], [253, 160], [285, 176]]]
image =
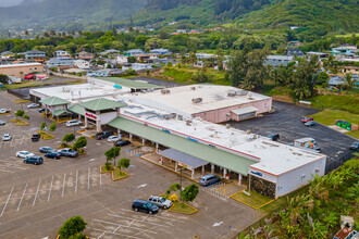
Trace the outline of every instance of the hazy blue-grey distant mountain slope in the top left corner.
[[128, 18], [146, 3], [147, 0], [26, 0], [16, 7], [0, 8], [0, 26], [91, 25]]

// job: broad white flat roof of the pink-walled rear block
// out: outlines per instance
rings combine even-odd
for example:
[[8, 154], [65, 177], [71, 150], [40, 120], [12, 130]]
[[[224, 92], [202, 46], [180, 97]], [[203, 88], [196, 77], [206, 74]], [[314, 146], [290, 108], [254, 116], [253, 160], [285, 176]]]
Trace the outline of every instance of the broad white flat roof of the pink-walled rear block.
[[[166, 90], [169, 90], [169, 93], [162, 93], [161, 90], [156, 90], [135, 96], [133, 97], [133, 101], [188, 116], [196, 113], [270, 99], [270, 97], [235, 87], [211, 84], [180, 86], [168, 88]], [[237, 95], [233, 96], [236, 92]], [[201, 102], [194, 103], [193, 99], [200, 98], [202, 100]]]

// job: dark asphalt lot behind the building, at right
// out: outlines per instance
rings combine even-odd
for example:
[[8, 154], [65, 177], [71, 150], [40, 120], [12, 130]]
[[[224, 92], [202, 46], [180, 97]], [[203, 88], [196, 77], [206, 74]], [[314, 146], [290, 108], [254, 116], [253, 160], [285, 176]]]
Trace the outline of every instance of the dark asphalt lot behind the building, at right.
[[[339, 166], [344, 159], [351, 153], [349, 147], [355, 141], [349, 136], [335, 131], [326, 126], [317, 124], [313, 127], [306, 127], [301, 118], [318, 113], [318, 110], [297, 106], [289, 103], [273, 102], [275, 113], [264, 114], [261, 117], [233, 122], [231, 125], [242, 130], [251, 130], [258, 135], [265, 135], [265, 131], [280, 134], [280, 142], [289, 143], [295, 139], [311, 137], [314, 138], [321, 152], [329, 156], [326, 169]], [[315, 121], [315, 117], [314, 117]]]

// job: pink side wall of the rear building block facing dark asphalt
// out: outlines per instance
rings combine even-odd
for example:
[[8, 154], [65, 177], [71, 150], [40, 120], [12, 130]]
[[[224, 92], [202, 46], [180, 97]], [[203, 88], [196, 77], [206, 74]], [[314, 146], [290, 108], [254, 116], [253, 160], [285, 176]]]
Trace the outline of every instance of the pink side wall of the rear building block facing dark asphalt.
[[[243, 108], [255, 106], [258, 109], [256, 114], [261, 114], [269, 112], [272, 109], [272, 98], [249, 102], [245, 104], [234, 105], [230, 108], [218, 109], [214, 111], [207, 111], [198, 114], [193, 114], [194, 117], [201, 117], [203, 121], [212, 122], [212, 123], [222, 123], [227, 122], [230, 120], [236, 121], [237, 117], [233, 118], [231, 115], [232, 110], [238, 110]], [[230, 113], [231, 115], [227, 116], [226, 114]]]

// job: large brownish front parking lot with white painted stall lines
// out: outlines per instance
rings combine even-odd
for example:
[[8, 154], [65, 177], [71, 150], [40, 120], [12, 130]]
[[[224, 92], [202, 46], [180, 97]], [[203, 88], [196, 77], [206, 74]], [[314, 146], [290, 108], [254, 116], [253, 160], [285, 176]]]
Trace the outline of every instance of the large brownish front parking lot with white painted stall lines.
[[[1, 108], [21, 109], [14, 100], [18, 99], [0, 91]], [[73, 128], [58, 124], [54, 139], [32, 142], [30, 135], [44, 118], [36, 110], [23, 106], [30, 117], [27, 126], [13, 126], [9, 122], [13, 114], [0, 115], [7, 123], [0, 126], [0, 135], [13, 136], [11, 141], [0, 142], [0, 238], [55, 238], [61, 225], [74, 215], [82, 215], [88, 223], [85, 234], [90, 238], [231, 238], [262, 216], [244, 204], [203, 190], [191, 203], [199, 209], [194, 215], [133, 212], [134, 199], [164, 193], [180, 181], [178, 175], [129, 155], [126, 151], [133, 146], [122, 149], [121, 158], [131, 159], [131, 166], [126, 169], [129, 177], [119, 181], [112, 181], [110, 174], [99, 173], [106, 162], [103, 153], [112, 147], [106, 140], [88, 139], [86, 154], [76, 159], [24, 164], [23, 159], [15, 158], [16, 151], [41, 155], [38, 148], [59, 147]], [[191, 183], [184, 178], [183, 186]]]

